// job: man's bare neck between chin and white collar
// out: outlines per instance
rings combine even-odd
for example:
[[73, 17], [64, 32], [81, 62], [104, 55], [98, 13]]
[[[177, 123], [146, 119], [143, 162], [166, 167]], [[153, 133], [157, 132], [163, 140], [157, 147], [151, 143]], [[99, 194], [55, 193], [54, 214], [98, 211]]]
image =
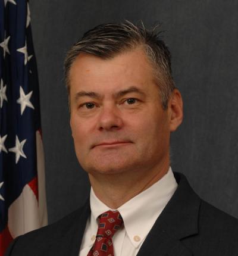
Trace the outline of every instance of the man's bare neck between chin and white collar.
[[168, 171], [169, 159], [152, 170], [131, 170], [117, 174], [91, 174], [95, 195], [111, 209], [117, 209], [160, 180]]

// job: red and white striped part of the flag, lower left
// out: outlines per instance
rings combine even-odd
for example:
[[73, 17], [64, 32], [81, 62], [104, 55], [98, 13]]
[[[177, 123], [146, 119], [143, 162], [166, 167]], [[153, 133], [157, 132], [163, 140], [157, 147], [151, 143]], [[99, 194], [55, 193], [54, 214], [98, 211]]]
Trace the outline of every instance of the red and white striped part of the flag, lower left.
[[37, 177], [31, 180], [8, 208], [8, 226], [0, 233], [0, 255], [17, 236], [48, 224], [45, 193], [45, 161], [42, 136], [36, 132]]

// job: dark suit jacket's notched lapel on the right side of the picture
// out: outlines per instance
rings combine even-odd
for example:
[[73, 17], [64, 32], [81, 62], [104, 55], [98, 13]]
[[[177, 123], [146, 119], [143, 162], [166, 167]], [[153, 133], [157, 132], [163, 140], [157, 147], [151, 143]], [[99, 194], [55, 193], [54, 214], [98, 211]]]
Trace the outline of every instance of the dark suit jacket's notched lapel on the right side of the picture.
[[137, 256], [192, 256], [181, 241], [198, 234], [201, 199], [183, 174], [174, 173], [178, 188], [143, 242]]

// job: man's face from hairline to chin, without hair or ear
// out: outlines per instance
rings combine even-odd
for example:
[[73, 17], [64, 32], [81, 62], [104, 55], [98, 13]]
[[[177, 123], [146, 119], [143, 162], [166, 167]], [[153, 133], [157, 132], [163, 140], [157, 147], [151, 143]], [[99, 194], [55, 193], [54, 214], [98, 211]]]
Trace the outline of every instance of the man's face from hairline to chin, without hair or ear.
[[140, 48], [111, 60], [80, 54], [70, 70], [70, 108], [76, 155], [90, 174], [149, 171], [169, 154], [170, 111]]

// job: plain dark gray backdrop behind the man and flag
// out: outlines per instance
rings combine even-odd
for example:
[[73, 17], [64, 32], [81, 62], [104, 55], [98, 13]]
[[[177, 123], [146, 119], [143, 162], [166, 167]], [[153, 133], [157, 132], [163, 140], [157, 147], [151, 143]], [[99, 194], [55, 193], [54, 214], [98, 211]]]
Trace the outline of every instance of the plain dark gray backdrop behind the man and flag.
[[71, 138], [62, 67], [65, 51], [100, 23], [162, 22], [184, 121], [171, 139], [172, 168], [206, 201], [238, 217], [238, 1], [32, 0], [49, 223], [89, 194]]

